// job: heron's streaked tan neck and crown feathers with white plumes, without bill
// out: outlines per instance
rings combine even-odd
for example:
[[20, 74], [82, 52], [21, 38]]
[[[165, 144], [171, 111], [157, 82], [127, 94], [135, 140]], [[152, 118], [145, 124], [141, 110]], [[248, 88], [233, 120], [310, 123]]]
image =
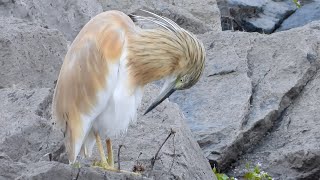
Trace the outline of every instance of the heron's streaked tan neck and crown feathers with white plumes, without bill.
[[145, 85], [169, 75], [191, 73], [199, 79], [205, 59], [203, 44], [195, 35], [172, 20], [142, 10], [153, 17], [130, 15], [135, 21], [148, 21], [164, 29], [142, 29], [129, 37], [128, 67], [134, 85]]

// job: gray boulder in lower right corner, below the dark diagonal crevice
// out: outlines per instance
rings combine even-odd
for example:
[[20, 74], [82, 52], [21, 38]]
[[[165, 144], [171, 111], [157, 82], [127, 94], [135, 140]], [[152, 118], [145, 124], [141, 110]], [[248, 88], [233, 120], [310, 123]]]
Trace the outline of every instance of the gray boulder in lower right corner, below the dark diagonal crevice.
[[274, 128], [251, 152], [230, 170], [241, 176], [245, 162], [279, 179], [320, 178], [320, 74], [306, 84], [299, 97], [283, 111]]

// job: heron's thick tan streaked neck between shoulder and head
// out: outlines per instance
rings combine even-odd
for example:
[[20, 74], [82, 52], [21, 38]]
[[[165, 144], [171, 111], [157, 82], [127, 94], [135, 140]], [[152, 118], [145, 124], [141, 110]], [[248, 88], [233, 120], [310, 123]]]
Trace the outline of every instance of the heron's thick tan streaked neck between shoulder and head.
[[144, 86], [178, 74], [184, 50], [179, 39], [163, 30], [141, 30], [128, 41], [128, 69], [131, 82]]

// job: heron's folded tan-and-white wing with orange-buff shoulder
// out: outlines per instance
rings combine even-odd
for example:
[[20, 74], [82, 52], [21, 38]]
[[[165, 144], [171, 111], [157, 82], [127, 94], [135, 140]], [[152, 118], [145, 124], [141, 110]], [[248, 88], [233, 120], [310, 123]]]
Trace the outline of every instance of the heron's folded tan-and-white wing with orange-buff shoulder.
[[89, 22], [71, 45], [53, 98], [53, 117], [65, 129], [71, 161], [79, 153], [93, 120], [105, 108], [112, 94], [110, 86], [117, 81], [124, 32], [100, 20]]

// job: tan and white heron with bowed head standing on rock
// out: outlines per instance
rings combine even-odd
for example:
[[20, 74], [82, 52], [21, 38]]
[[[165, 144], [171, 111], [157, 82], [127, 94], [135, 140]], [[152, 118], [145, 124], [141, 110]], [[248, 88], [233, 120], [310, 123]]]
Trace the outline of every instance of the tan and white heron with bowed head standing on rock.
[[[191, 88], [203, 72], [205, 48], [193, 33], [169, 18], [141, 11], [146, 15], [117, 10], [96, 15], [65, 55], [52, 114], [63, 131], [70, 164], [79, 156], [90, 157], [97, 144], [99, 166], [115, 170], [112, 139], [136, 121], [144, 87], [164, 82], [147, 114], [173, 92]], [[139, 22], [156, 27], [143, 28]]]

